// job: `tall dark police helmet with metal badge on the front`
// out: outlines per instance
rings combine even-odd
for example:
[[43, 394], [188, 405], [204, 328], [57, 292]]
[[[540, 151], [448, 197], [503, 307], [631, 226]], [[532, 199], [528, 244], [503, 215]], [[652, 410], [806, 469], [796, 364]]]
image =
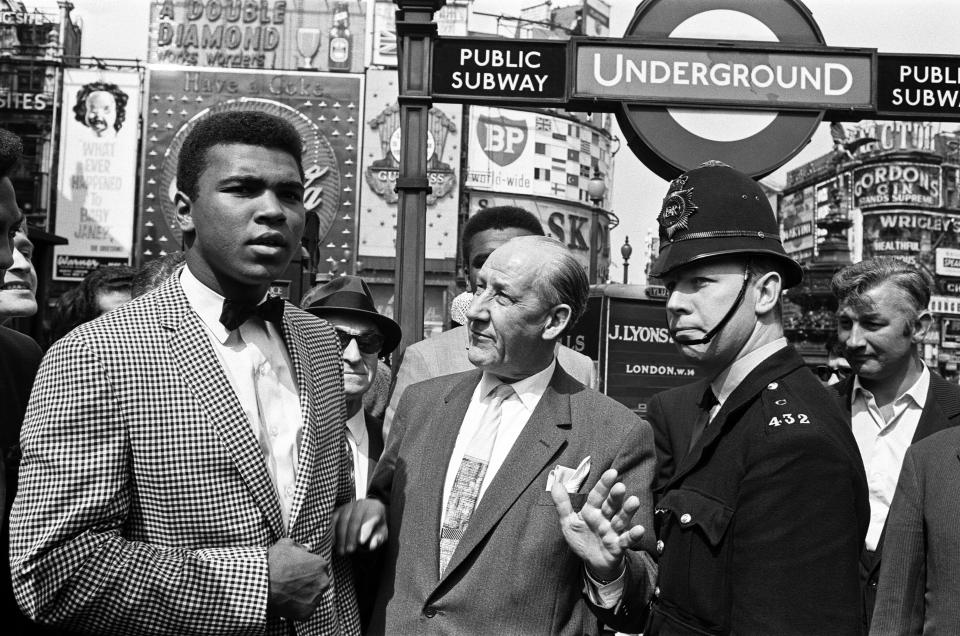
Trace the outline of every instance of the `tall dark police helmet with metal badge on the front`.
[[660, 254], [650, 268], [661, 277], [713, 256], [762, 254], [783, 265], [784, 288], [803, 278], [787, 256], [777, 219], [756, 181], [719, 161], [708, 161], [672, 182], [660, 216]]

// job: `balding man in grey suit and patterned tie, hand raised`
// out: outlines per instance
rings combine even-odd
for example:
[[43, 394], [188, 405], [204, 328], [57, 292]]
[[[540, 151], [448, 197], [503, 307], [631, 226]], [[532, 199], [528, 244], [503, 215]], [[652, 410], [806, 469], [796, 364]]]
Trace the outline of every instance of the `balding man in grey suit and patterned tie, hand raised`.
[[369, 497], [338, 512], [339, 549], [386, 540], [369, 634], [598, 634], [595, 603], [625, 580], [644, 614], [650, 427], [557, 363], [588, 291], [552, 238], [486, 259], [466, 314], [477, 368], [404, 392]]

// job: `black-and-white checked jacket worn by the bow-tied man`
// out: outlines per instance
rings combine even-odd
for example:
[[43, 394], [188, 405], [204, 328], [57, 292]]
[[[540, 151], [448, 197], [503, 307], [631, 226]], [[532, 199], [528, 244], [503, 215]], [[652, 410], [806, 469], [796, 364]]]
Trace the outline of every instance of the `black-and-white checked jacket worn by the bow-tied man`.
[[[349, 501], [341, 362], [330, 326], [286, 306], [304, 429], [289, 532], [276, 489], [175, 275], [58, 341], [21, 437], [11, 564], [36, 620], [96, 634], [357, 634], [330, 517]], [[267, 548], [331, 563], [303, 622], [267, 616]]]

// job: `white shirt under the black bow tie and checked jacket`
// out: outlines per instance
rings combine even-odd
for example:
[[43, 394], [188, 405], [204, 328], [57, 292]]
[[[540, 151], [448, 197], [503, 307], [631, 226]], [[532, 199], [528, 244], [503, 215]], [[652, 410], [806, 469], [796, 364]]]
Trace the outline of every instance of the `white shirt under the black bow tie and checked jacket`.
[[230, 386], [250, 422], [270, 479], [277, 489], [283, 523], [289, 527], [297, 485], [303, 415], [293, 364], [275, 325], [254, 316], [233, 331], [220, 322], [223, 296], [184, 267], [180, 285], [207, 328]]

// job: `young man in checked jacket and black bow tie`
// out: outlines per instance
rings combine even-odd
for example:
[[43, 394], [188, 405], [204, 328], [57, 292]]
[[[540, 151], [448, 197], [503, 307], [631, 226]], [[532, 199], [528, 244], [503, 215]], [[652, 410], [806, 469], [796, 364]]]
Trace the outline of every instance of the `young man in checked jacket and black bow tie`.
[[57, 341], [21, 436], [17, 600], [96, 634], [359, 634], [336, 335], [267, 294], [300, 249], [302, 140], [243, 110], [179, 154], [186, 265]]

